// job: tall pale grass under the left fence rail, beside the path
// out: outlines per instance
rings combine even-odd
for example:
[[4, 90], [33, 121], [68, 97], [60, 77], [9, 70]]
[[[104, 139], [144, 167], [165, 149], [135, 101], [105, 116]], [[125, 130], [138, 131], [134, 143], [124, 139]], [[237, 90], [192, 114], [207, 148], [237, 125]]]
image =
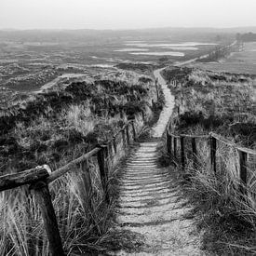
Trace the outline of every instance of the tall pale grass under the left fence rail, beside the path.
[[[137, 116], [136, 129], [143, 122]], [[132, 138], [131, 130], [129, 130]], [[125, 155], [122, 138], [117, 142], [117, 154], [110, 159], [109, 190], [110, 205], [104, 202], [100, 171], [95, 157], [88, 163], [91, 185], [86, 169], [78, 167], [71, 173], [50, 184], [53, 206], [56, 211], [63, 247], [68, 255], [86, 251], [104, 251], [109, 248], [112, 236], [109, 228], [114, 221], [115, 167]], [[112, 149], [113, 150], [113, 149]], [[64, 162], [62, 162], [64, 164]], [[28, 187], [1, 193], [0, 255], [47, 255], [48, 243], [40, 210], [34, 201], [33, 191]]]

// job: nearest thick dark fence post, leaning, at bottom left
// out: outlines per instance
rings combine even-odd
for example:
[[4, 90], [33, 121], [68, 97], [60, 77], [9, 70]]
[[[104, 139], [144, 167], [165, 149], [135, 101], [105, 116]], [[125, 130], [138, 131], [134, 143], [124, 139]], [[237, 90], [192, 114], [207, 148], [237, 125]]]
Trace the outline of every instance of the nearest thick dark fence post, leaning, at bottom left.
[[34, 189], [34, 197], [40, 207], [47, 231], [50, 253], [52, 256], [64, 256], [61, 235], [47, 182], [37, 182], [32, 188]]

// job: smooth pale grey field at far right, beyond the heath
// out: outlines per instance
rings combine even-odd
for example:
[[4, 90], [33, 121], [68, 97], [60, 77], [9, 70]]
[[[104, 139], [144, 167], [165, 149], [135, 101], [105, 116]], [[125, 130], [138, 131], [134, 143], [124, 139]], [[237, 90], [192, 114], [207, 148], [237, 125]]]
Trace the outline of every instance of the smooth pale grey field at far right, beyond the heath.
[[208, 63], [196, 62], [191, 67], [216, 72], [256, 75], [256, 43], [244, 43], [240, 51], [232, 53], [222, 61]]

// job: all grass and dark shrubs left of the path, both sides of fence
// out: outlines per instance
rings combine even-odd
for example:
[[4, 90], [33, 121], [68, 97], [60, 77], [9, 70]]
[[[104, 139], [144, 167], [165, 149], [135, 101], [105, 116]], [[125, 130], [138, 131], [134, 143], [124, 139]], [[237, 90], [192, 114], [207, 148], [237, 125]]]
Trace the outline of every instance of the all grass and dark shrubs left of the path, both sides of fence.
[[[7, 109], [0, 122], [2, 172], [41, 164], [57, 168], [112, 138], [129, 118], [141, 128], [141, 110], [146, 120], [152, 117], [155, 88], [150, 79], [125, 71], [103, 78], [56, 88]], [[121, 138], [117, 152], [115, 163], [123, 155]], [[50, 191], [65, 251], [83, 254], [111, 246], [115, 196], [104, 204], [96, 159], [88, 161], [92, 189], [79, 168], [51, 184]], [[114, 195], [115, 176], [110, 173]], [[0, 254], [47, 255], [45, 229], [28, 188], [2, 193], [0, 206]]]

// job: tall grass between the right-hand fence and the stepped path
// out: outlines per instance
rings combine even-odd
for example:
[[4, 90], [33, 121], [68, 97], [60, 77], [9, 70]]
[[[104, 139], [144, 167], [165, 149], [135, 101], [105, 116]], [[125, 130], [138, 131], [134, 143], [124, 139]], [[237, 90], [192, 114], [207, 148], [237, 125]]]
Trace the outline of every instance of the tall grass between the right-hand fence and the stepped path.
[[[202, 134], [203, 129], [198, 129]], [[214, 255], [255, 255], [255, 157], [249, 156], [245, 186], [240, 182], [236, 149], [217, 141], [217, 171], [214, 173], [210, 165], [209, 140], [196, 139], [196, 148], [195, 167], [191, 141], [185, 139], [186, 167], [184, 172], [176, 168], [175, 173], [194, 206], [191, 216], [203, 234], [203, 249]], [[242, 193], [243, 190], [247, 194]]]

